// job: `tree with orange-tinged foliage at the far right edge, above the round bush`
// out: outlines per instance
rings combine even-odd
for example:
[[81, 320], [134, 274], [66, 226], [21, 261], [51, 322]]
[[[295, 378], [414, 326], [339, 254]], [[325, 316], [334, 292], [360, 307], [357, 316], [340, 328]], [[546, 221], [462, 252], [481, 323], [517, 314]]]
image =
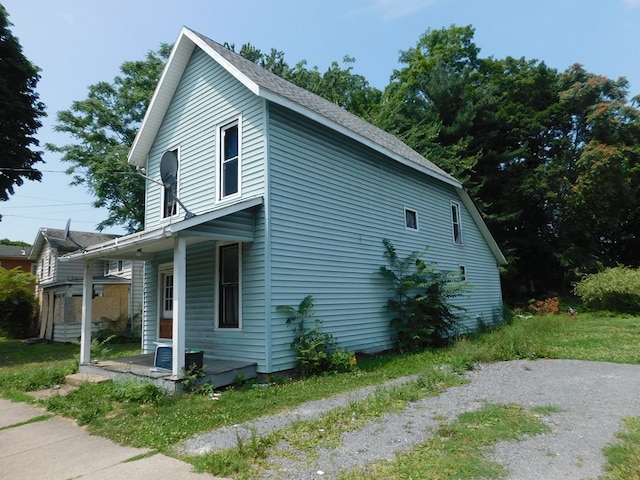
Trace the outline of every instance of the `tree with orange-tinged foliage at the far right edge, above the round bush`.
[[566, 158], [555, 188], [566, 195], [558, 228], [562, 259], [578, 273], [639, 265], [639, 101], [628, 100], [624, 78], [594, 75], [579, 64], [561, 77]]

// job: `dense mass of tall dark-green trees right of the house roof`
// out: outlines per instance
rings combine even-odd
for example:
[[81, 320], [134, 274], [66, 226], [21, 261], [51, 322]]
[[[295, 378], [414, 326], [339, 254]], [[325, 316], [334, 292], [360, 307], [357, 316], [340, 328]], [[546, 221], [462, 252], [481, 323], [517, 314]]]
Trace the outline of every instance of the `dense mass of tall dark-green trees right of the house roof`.
[[473, 35], [428, 30], [402, 52], [376, 123], [463, 181], [509, 259], [507, 289], [566, 291], [637, 265], [640, 123], [626, 80], [482, 58]]

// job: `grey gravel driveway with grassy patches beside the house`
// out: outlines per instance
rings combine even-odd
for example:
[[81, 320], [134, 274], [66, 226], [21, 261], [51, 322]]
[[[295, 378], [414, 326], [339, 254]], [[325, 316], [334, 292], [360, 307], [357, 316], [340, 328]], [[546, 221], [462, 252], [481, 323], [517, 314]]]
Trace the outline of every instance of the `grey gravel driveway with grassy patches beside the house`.
[[[338, 448], [318, 449], [317, 460], [296, 462], [290, 457], [270, 457], [273, 467], [265, 472], [265, 478], [336, 478], [341, 469], [393, 459], [395, 452], [411, 449], [428, 438], [431, 429], [443, 418], [452, 421], [461, 413], [489, 402], [559, 409], [558, 413], [543, 417], [551, 433], [497, 445], [493, 459], [511, 472], [509, 479], [596, 479], [603, 473], [602, 448], [616, 441], [614, 434], [622, 430], [621, 419], [640, 416], [639, 365], [525, 360], [483, 365], [465, 376], [470, 383], [450, 388], [438, 397], [414, 402], [400, 414], [386, 415], [363, 429], [349, 432]], [[237, 444], [238, 435], [245, 438], [251, 432], [264, 435], [371, 392], [372, 389], [350, 392], [251, 424], [225, 427], [194, 437], [179, 450], [204, 453], [232, 447]], [[428, 474], [424, 478], [429, 478]]]

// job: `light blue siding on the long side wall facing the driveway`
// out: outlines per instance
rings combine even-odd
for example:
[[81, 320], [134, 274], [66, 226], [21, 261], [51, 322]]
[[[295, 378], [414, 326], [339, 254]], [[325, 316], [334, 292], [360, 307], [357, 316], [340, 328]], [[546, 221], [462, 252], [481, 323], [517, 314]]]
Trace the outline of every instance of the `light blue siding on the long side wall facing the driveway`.
[[[453, 187], [279, 107], [269, 113], [274, 370], [293, 365], [293, 334], [276, 308], [309, 294], [341, 345], [393, 346], [389, 285], [378, 273], [384, 238], [401, 256], [428, 245], [425, 260], [441, 270], [466, 265], [479, 284], [458, 302], [470, 308], [468, 323], [501, 304], [496, 260]], [[460, 204], [462, 246], [453, 243], [452, 200]], [[418, 231], [405, 228], [405, 208], [418, 212]]]

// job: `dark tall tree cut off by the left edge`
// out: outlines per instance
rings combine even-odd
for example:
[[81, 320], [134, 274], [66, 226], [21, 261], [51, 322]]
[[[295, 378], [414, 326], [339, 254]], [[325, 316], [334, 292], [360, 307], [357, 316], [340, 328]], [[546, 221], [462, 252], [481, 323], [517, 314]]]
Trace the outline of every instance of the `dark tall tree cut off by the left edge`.
[[[39, 69], [22, 54], [9, 27], [9, 15], [0, 4], [0, 200], [14, 194], [24, 180], [42, 179], [34, 164], [43, 162], [35, 134], [42, 126], [45, 106], [36, 86]], [[0, 216], [0, 218], [2, 218]]]

